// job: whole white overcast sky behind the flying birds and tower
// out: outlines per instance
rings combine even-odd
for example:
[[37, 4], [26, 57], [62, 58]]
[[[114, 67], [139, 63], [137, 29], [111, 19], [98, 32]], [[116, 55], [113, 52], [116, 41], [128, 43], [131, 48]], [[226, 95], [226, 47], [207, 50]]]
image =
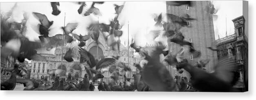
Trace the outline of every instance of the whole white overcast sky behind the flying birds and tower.
[[[90, 7], [92, 2], [86, 2], [87, 6], [84, 8], [83, 13]], [[0, 9], [3, 12], [9, 11], [15, 3], [11, 2], [1, 2]], [[90, 16], [84, 17], [77, 13], [79, 4], [73, 2], [60, 2], [60, 10], [62, 13], [60, 15], [52, 15], [52, 8], [49, 2], [19, 2], [18, 6], [13, 12], [13, 19], [15, 21], [21, 21], [23, 19], [23, 12], [28, 12], [30, 14], [29, 21], [27, 23], [27, 34], [26, 36], [30, 40], [39, 40], [37, 34], [32, 28], [36, 26], [39, 21], [35, 19], [31, 12], [38, 12], [45, 14], [50, 21], [54, 21], [51, 26], [51, 32], [49, 36], [54, 36], [55, 34], [63, 34], [60, 29], [64, 25], [64, 15], [66, 13], [66, 24], [67, 23], [79, 23], [74, 33], [76, 34], [88, 34], [86, 27], [93, 21], [99, 19], [100, 23], [108, 24], [111, 19], [115, 17], [115, 9], [113, 4], [122, 5], [124, 2], [105, 2], [104, 4], [95, 4], [95, 7], [99, 8], [102, 16], [95, 16], [91, 14]], [[227, 34], [234, 34], [234, 24], [232, 19], [242, 15], [242, 1], [214, 1], [213, 4], [218, 8], [218, 19], [214, 21], [215, 38], [218, 39], [219, 36], [225, 37], [225, 19], [227, 17]], [[159, 30], [159, 28], [154, 27], [154, 19], [152, 17], [153, 13], [166, 13], [166, 3], [163, 1], [140, 1], [140, 2], [125, 2], [124, 9], [119, 17], [119, 22], [124, 25], [121, 30], [124, 31], [123, 36], [121, 36], [121, 43], [128, 43], [128, 22], [129, 22], [129, 37], [130, 41], [132, 37], [137, 40], [138, 45], [144, 46], [146, 43], [154, 44], [152, 41], [147, 41], [146, 36], [150, 30]], [[166, 38], [159, 37], [156, 40], [166, 41]], [[54, 53], [54, 52], [53, 52]]]

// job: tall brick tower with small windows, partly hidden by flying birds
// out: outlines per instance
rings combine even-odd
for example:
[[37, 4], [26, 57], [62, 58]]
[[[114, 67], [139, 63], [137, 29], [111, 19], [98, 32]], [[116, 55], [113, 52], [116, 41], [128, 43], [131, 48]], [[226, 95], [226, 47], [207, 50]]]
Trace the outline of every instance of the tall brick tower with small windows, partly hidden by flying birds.
[[[187, 57], [190, 63], [195, 63], [200, 60], [209, 59], [210, 62], [206, 65], [205, 69], [207, 72], [213, 70], [213, 66], [216, 64], [217, 52], [207, 49], [207, 47], [212, 47], [215, 41], [214, 35], [214, 26], [212, 15], [207, 11], [207, 6], [209, 6], [210, 1], [193, 1], [194, 6], [181, 5], [181, 6], [172, 6], [166, 4], [166, 13], [174, 14], [181, 16], [183, 14], [188, 14], [196, 20], [188, 21], [188, 26], [181, 28], [181, 33], [185, 37], [185, 40], [193, 43], [193, 46], [196, 50], [201, 51], [201, 57], [194, 58], [192, 55]], [[170, 22], [170, 19], [167, 18], [167, 21]], [[176, 43], [168, 43], [168, 49], [170, 53], [177, 53], [182, 47]], [[184, 71], [182, 74], [179, 74], [173, 66], [167, 68], [174, 77], [179, 75], [181, 77], [190, 78], [190, 74]]]

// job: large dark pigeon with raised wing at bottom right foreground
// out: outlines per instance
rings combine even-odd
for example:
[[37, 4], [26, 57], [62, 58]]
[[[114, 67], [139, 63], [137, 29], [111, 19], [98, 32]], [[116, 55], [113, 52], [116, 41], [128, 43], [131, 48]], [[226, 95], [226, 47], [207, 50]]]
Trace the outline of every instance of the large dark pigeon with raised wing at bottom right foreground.
[[191, 84], [199, 91], [209, 92], [229, 92], [236, 91], [230, 85], [230, 81], [233, 80], [234, 70], [236, 70], [236, 64], [234, 60], [229, 58], [223, 58], [218, 61], [218, 64], [214, 67], [215, 72], [208, 73], [202, 69], [193, 67], [186, 61], [179, 64], [178, 68], [184, 68], [188, 71], [192, 77]]

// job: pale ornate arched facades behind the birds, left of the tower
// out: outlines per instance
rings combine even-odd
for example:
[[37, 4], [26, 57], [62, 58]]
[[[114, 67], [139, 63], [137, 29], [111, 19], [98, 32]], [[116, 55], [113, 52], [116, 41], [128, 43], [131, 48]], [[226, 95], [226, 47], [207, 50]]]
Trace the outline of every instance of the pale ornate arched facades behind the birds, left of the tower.
[[[84, 46], [83, 48], [89, 51], [95, 57], [95, 59], [108, 58], [108, 57], [119, 55], [120, 56], [119, 59], [121, 59], [121, 62], [124, 62], [126, 66], [130, 66], [133, 73], [136, 72], [136, 67], [133, 66], [133, 63], [136, 57], [134, 57], [133, 55], [134, 51], [132, 49], [129, 48], [128, 50], [128, 46], [124, 46], [121, 44], [120, 51], [114, 51], [112, 50], [111, 47], [108, 47], [106, 45], [106, 42], [102, 34], [100, 34], [98, 40], [99, 40], [98, 45], [92, 39], [86, 41], [86, 46]], [[73, 79], [81, 81], [84, 78], [84, 74], [86, 74], [85, 66], [88, 66], [88, 65], [83, 65], [79, 63], [80, 54], [78, 52], [78, 47], [75, 51], [73, 51], [78, 55], [77, 59], [75, 59], [73, 62], [66, 62], [66, 60], [62, 59], [62, 57], [64, 57], [66, 51], [68, 51], [68, 46], [65, 45], [63, 48], [64, 48], [63, 53], [62, 53], [62, 46], [57, 46], [54, 54], [40, 53], [40, 55], [45, 57], [46, 60], [41, 60], [41, 61], [32, 60], [31, 79], [33, 78], [40, 79], [42, 76], [44, 77], [49, 76], [49, 78], [51, 78], [51, 75], [49, 75], [48, 72], [51, 70], [57, 70], [57, 69], [63, 70], [62, 74], [60, 74], [60, 78], [66, 79], [68, 76], [68, 73], [72, 69], [72, 71], [74, 71], [74, 74], [72, 75]], [[110, 72], [107, 71], [102, 74], [104, 75], [104, 78], [102, 79], [102, 81], [106, 81], [108, 83], [110, 81]], [[124, 81], [124, 79], [122, 77], [119, 77], [119, 81], [122, 82]]]

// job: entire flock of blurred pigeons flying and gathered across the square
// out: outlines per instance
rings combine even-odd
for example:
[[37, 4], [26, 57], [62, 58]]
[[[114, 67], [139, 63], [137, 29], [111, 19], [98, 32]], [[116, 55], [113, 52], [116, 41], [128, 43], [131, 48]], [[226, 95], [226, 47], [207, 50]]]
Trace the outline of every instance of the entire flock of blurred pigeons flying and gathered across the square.
[[[81, 6], [77, 10], [79, 14], [82, 14], [86, 2], [78, 2]], [[84, 13], [84, 16], [90, 14], [99, 15], [101, 13], [94, 4], [104, 4], [104, 2], [93, 2], [90, 8]], [[167, 4], [172, 6], [189, 5], [192, 6], [192, 1], [170, 1]], [[211, 4], [212, 5], [212, 4]], [[15, 4], [16, 6], [16, 4]], [[13, 8], [15, 8], [15, 6]], [[57, 16], [61, 13], [58, 6], [61, 6], [59, 2], [51, 2], [52, 14]], [[46, 15], [41, 13], [33, 12], [33, 16], [40, 21], [37, 28], [34, 30], [39, 30], [40, 41], [29, 41], [28, 38], [24, 36], [26, 34], [26, 21], [28, 20], [27, 14], [24, 13], [24, 19], [21, 23], [15, 21], [9, 21], [8, 19], [12, 15], [12, 10], [8, 13], [1, 13], [1, 42], [7, 42], [4, 47], [1, 47], [1, 56], [8, 59], [9, 56], [15, 58], [20, 63], [14, 64], [11, 68], [6, 68], [6, 70], [12, 71], [10, 79], [1, 82], [1, 90], [13, 90], [16, 83], [21, 83], [24, 85], [24, 90], [52, 90], [52, 91], [93, 91], [94, 86], [91, 82], [97, 81], [97, 79], [104, 78], [103, 72], [109, 71], [110, 82], [106, 83], [104, 81], [99, 82], [99, 91], [237, 91], [232, 88], [234, 85], [234, 71], [236, 70], [236, 63], [228, 58], [223, 58], [218, 61], [218, 64], [214, 66], [214, 72], [209, 73], [204, 70], [205, 65], [209, 60], [201, 60], [195, 65], [188, 63], [185, 59], [184, 52], [188, 52], [193, 57], [200, 57], [201, 52], [194, 49], [193, 44], [186, 41], [184, 36], [180, 32], [180, 29], [188, 26], [188, 21], [196, 20], [190, 17], [188, 14], [182, 16], [177, 16], [173, 14], [166, 14], [166, 17], [170, 19], [169, 22], [164, 22], [163, 14], [159, 14], [154, 18], [155, 27], [163, 27], [164, 30], [152, 30], [150, 34], [154, 40], [159, 36], [160, 31], [164, 31], [163, 36], [168, 38], [168, 42], [173, 42], [181, 45], [181, 49], [176, 54], [171, 54], [169, 51], [165, 51], [166, 47], [163, 43], [158, 42], [157, 47], [140, 47], [136, 45], [136, 41], [130, 44], [130, 47], [135, 49], [135, 52], [139, 53], [144, 60], [141, 60], [139, 64], [134, 64], [139, 72], [131, 76], [132, 70], [129, 66], [126, 66], [124, 62], [121, 62], [119, 56], [113, 56], [112, 58], [102, 58], [95, 59], [95, 57], [83, 49], [86, 44], [86, 40], [90, 38], [93, 39], [98, 44], [99, 34], [104, 36], [106, 43], [113, 50], [118, 50], [120, 47], [120, 39], [116, 40], [122, 36], [123, 32], [120, 30], [122, 25], [119, 24], [117, 20], [119, 14], [121, 13], [124, 5], [114, 4], [116, 11], [116, 17], [110, 22], [110, 24], [105, 23], [91, 23], [87, 28], [88, 35], [82, 36], [73, 34], [73, 30], [76, 29], [78, 23], [68, 23], [66, 26], [61, 27], [64, 34], [57, 34], [55, 36], [49, 37], [49, 29], [54, 23], [50, 21]], [[213, 5], [208, 9], [209, 13], [212, 14], [216, 9]], [[37, 53], [37, 49], [46, 49], [50, 51], [57, 45], [63, 45], [64, 43], [72, 43], [75, 40], [79, 41], [79, 54], [80, 63], [87, 64], [84, 66], [86, 74], [84, 74], [84, 79], [82, 81], [74, 81], [72, 79], [74, 71], [70, 70], [68, 72], [68, 78], [60, 81], [60, 76], [58, 76], [62, 70], [57, 69], [49, 72], [52, 77], [49, 78], [41, 77], [41, 79], [18, 79], [16, 75], [23, 76], [29, 73], [29, 70], [24, 69], [24, 60], [44, 60]], [[214, 51], [217, 51], [216, 47], [209, 47]], [[73, 62], [73, 58], [77, 58], [77, 55], [73, 52], [77, 48], [69, 48], [64, 55], [64, 60], [67, 62]], [[167, 62], [171, 66], [176, 66], [177, 70], [182, 73], [186, 70], [190, 73], [191, 79], [187, 77], [175, 76], [174, 78], [167, 70], [166, 66], [160, 61], [159, 55], [164, 55], [164, 62]], [[111, 67], [109, 67], [111, 66]], [[119, 77], [124, 77], [124, 85], [118, 83]], [[134, 77], [134, 82], [131, 82], [131, 77]]]

